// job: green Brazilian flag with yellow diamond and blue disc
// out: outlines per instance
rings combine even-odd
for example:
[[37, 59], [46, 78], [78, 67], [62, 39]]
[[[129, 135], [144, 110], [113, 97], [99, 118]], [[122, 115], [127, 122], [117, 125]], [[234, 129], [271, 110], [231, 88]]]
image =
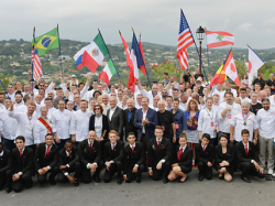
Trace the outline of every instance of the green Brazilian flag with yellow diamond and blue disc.
[[48, 50], [58, 48], [59, 45], [59, 36], [58, 36], [58, 29], [55, 28], [52, 31], [35, 37], [36, 41], [36, 48], [38, 51], [40, 56], [46, 54]]

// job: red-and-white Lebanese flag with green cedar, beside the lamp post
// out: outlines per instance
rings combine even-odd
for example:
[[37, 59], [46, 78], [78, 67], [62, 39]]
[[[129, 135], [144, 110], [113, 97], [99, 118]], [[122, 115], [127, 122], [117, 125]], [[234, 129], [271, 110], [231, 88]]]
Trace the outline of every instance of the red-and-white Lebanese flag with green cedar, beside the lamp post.
[[234, 36], [228, 32], [211, 32], [206, 30], [207, 48], [234, 44]]

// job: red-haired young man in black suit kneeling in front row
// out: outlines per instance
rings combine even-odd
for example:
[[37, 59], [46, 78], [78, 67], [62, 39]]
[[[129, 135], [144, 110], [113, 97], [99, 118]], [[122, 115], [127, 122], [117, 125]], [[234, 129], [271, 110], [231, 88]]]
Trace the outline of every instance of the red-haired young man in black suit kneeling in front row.
[[117, 181], [118, 184], [122, 184], [122, 170], [123, 170], [123, 153], [124, 153], [124, 143], [122, 141], [118, 141], [118, 132], [111, 130], [109, 132], [109, 142], [105, 144], [105, 182], [109, 183], [118, 172]]

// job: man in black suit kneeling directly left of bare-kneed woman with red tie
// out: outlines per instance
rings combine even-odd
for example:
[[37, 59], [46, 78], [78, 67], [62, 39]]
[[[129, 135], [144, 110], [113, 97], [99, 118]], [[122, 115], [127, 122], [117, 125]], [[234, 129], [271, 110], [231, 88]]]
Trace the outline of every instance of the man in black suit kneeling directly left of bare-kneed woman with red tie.
[[153, 176], [154, 181], [163, 176], [163, 183], [166, 184], [172, 164], [172, 143], [163, 138], [162, 126], [155, 127], [155, 137], [148, 141], [148, 175]]

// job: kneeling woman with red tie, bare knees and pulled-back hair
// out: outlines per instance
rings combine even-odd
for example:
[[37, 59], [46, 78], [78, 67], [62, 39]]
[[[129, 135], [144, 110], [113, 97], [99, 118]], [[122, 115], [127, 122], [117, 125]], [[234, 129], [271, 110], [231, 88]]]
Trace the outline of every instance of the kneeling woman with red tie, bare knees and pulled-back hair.
[[180, 133], [178, 138], [179, 145], [176, 149], [177, 161], [172, 164], [172, 171], [168, 175], [169, 181], [174, 181], [177, 176], [180, 176], [179, 183], [187, 181], [187, 174], [193, 169], [193, 149], [187, 145], [187, 138], [185, 133]]

